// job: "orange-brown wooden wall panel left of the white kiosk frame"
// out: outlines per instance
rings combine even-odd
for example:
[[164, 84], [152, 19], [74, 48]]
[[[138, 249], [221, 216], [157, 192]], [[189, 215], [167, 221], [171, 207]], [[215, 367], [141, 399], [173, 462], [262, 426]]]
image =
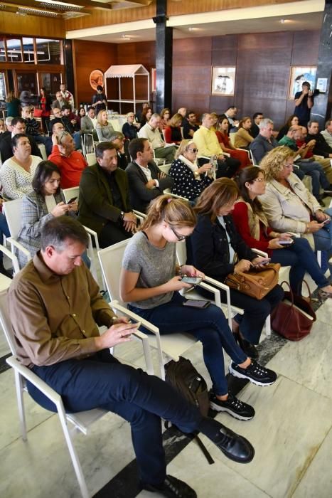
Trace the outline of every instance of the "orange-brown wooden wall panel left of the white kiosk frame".
[[91, 102], [95, 91], [89, 83], [90, 73], [93, 69], [104, 73], [110, 65], [117, 64], [117, 46], [114, 43], [73, 40], [73, 59], [76, 105]]

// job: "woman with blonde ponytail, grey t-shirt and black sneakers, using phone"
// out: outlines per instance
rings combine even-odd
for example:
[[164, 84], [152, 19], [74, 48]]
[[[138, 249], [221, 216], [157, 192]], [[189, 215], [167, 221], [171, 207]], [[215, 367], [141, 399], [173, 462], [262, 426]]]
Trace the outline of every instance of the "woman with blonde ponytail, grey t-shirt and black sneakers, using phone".
[[220, 308], [214, 304], [205, 309], [183, 307], [186, 297], [179, 291], [190, 288], [183, 282], [183, 275], [204, 277], [192, 265], [176, 265], [176, 243], [188, 238], [195, 225], [196, 216], [186, 201], [167, 195], [156, 198], [140, 231], [125, 249], [120, 294], [132, 312], [159, 328], [161, 336], [181, 331], [200, 340], [213, 383], [211, 407], [250, 420], [255, 415], [254, 408], [228, 392], [224, 349], [232, 359], [230, 373], [235, 376], [268, 386], [277, 375], [252, 361], [237, 346]]

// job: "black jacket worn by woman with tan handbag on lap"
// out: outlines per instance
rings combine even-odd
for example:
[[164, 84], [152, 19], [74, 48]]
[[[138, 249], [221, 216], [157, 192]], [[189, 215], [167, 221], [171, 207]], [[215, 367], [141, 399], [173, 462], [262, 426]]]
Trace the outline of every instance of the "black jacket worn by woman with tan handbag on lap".
[[[257, 258], [235, 228], [232, 216], [224, 216], [227, 233], [232, 248], [239, 260]], [[218, 218], [213, 223], [210, 215], [198, 215], [198, 223], [191, 237], [187, 240], [187, 263], [194, 265], [208, 277], [224, 282], [229, 273], [234, 271], [230, 261], [227, 234]]]

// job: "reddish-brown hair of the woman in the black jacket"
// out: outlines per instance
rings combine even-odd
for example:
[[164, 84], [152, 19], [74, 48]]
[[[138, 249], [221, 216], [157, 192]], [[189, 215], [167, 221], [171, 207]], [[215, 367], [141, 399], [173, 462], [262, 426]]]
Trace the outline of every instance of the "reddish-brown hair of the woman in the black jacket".
[[208, 214], [211, 221], [215, 221], [219, 209], [235, 201], [238, 196], [239, 189], [234, 180], [219, 178], [203, 190], [194, 211], [198, 214]]

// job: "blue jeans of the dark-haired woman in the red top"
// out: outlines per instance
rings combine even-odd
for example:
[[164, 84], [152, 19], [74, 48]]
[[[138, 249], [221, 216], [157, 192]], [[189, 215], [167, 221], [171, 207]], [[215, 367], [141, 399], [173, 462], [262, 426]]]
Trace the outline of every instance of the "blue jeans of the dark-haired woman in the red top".
[[302, 282], [306, 272], [309, 273], [319, 288], [328, 285], [328, 280], [323, 275], [316, 255], [306, 238], [295, 238], [294, 244], [289, 248], [274, 249], [271, 263], [280, 263], [282, 266], [291, 267], [289, 270], [289, 285], [294, 294], [301, 295]]

